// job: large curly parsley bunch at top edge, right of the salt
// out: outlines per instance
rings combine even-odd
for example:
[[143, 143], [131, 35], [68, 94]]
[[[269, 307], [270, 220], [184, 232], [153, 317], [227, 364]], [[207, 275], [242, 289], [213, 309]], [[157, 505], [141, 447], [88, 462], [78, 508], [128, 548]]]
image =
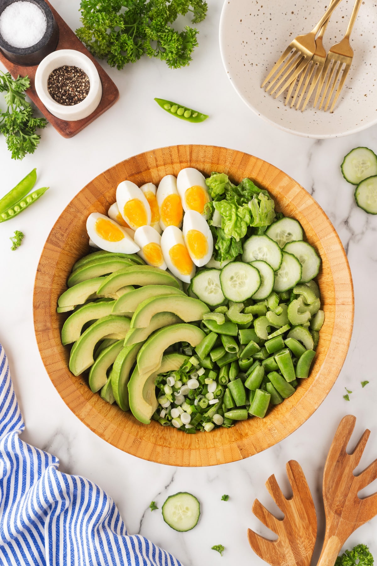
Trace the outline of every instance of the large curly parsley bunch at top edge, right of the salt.
[[196, 28], [180, 32], [171, 24], [190, 12], [192, 22], [206, 17], [205, 0], [81, 0], [77, 37], [93, 55], [122, 69], [142, 55], [157, 57], [170, 68], [189, 65], [198, 45]]

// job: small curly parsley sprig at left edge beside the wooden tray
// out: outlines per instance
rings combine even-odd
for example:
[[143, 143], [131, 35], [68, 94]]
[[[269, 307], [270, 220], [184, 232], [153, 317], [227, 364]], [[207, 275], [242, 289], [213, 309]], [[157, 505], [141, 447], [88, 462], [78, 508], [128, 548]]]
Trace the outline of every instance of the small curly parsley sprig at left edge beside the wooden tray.
[[23, 159], [34, 153], [41, 139], [38, 128], [45, 128], [45, 118], [34, 118], [33, 107], [25, 99], [25, 90], [30, 86], [28, 76], [12, 79], [9, 72], [0, 71], [0, 92], [4, 93], [5, 111], [0, 109], [0, 132], [5, 135], [12, 159]]

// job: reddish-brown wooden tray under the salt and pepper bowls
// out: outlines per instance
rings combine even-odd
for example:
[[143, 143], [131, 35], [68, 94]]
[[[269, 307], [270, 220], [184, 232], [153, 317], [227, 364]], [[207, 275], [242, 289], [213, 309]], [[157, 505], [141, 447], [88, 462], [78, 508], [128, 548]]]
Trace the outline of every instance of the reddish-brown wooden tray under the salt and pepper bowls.
[[0, 51], [0, 61], [5, 65], [7, 70], [10, 74], [16, 78], [18, 75], [25, 76], [28, 75], [30, 79], [30, 88], [27, 90], [27, 95], [34, 104], [37, 106], [38, 109], [42, 112], [42, 114], [47, 118], [50, 122], [51, 126], [54, 126], [55, 130], [59, 132], [63, 138], [72, 138], [81, 130], [83, 130], [86, 126], [93, 122], [98, 116], [101, 116], [103, 112], [106, 112], [119, 98], [119, 91], [116, 88], [115, 83], [112, 82], [109, 75], [103, 70], [101, 65], [97, 63], [96, 59], [89, 53], [88, 49], [81, 43], [78, 37], [76, 37], [75, 33], [73, 33], [72, 29], [64, 22], [63, 18], [59, 16], [58, 12], [51, 6], [50, 2], [46, 3], [50, 6], [51, 12], [53, 12], [54, 18], [58, 24], [59, 28], [59, 42], [57, 49], [75, 49], [76, 51], [80, 51], [84, 53], [91, 61], [93, 61], [94, 65], [96, 65], [99, 77], [101, 78], [102, 82], [102, 98], [101, 102], [97, 106], [96, 110], [92, 112], [88, 117], [83, 118], [81, 120], [77, 120], [75, 122], [68, 122], [66, 120], [62, 120], [57, 118], [53, 114], [47, 110], [46, 106], [42, 104], [40, 98], [36, 93], [36, 89], [34, 87], [34, 78], [37, 71], [37, 65], [31, 67], [25, 67], [23, 65], [17, 65], [16, 63], [12, 63], [9, 61], [3, 53]]

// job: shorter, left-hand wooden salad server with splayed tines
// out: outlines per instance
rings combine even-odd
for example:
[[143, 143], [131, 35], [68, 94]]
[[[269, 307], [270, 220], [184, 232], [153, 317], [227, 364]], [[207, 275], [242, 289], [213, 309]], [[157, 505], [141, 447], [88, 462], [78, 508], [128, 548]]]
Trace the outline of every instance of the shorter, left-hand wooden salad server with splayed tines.
[[287, 475], [293, 496], [285, 498], [276, 482], [275, 475], [267, 479], [266, 487], [276, 505], [284, 513], [283, 519], [276, 518], [255, 499], [255, 517], [278, 535], [270, 541], [248, 529], [248, 539], [262, 560], [271, 566], [310, 566], [315, 539], [317, 538], [317, 514], [304, 472], [295, 460], [287, 463]]

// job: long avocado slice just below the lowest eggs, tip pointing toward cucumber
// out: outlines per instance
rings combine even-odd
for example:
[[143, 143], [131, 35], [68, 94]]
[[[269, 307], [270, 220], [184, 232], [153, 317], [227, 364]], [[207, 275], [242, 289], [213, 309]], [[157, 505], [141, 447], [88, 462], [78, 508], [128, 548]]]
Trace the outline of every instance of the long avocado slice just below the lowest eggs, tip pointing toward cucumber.
[[170, 285], [179, 289], [176, 278], [163, 269], [151, 265], [132, 265], [108, 275], [98, 289], [98, 294], [109, 297], [124, 285]]

